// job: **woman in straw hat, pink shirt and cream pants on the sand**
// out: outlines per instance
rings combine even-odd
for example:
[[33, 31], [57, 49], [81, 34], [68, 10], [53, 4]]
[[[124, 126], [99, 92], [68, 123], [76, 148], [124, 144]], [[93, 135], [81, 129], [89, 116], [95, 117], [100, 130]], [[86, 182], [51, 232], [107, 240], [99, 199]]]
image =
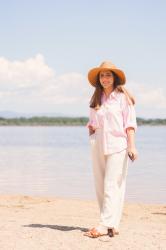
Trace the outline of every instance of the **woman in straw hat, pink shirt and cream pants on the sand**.
[[88, 79], [95, 87], [87, 127], [100, 221], [84, 235], [113, 237], [119, 234], [128, 156], [132, 161], [137, 158], [135, 100], [123, 86], [124, 72], [111, 62], [91, 69]]

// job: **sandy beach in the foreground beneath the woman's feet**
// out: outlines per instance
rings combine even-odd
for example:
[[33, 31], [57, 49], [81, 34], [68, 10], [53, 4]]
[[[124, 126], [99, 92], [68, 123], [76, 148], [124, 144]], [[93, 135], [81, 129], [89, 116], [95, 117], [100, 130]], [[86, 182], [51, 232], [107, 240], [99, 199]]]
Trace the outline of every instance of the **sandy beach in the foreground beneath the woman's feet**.
[[165, 250], [166, 205], [125, 203], [120, 234], [83, 233], [98, 223], [95, 200], [0, 196], [0, 250]]

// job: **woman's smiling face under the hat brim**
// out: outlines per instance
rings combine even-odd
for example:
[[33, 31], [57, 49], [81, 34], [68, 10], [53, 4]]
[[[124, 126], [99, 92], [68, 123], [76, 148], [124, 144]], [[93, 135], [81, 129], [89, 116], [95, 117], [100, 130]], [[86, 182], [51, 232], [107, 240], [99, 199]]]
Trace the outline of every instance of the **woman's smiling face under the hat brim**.
[[99, 74], [99, 80], [103, 88], [107, 89], [113, 87], [114, 76], [110, 70], [101, 71]]

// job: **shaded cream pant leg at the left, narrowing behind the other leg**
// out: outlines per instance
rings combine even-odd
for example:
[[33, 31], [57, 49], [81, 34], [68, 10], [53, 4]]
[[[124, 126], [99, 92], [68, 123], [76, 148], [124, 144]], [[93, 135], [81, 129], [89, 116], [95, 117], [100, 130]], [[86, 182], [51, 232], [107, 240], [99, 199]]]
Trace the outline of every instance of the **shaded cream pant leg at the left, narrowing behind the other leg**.
[[106, 157], [104, 156], [103, 152], [102, 132], [100, 129], [97, 129], [95, 133], [90, 136], [90, 145], [95, 190], [101, 212], [104, 197], [104, 176], [106, 168]]

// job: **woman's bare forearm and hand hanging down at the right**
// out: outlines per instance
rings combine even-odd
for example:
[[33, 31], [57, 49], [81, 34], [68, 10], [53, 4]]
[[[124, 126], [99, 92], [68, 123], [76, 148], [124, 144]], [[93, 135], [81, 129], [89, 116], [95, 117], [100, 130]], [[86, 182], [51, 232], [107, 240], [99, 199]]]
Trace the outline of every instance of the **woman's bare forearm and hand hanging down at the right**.
[[128, 143], [128, 154], [132, 161], [136, 160], [138, 157], [138, 152], [135, 146], [135, 130], [132, 127], [126, 129], [127, 133], [127, 143]]

